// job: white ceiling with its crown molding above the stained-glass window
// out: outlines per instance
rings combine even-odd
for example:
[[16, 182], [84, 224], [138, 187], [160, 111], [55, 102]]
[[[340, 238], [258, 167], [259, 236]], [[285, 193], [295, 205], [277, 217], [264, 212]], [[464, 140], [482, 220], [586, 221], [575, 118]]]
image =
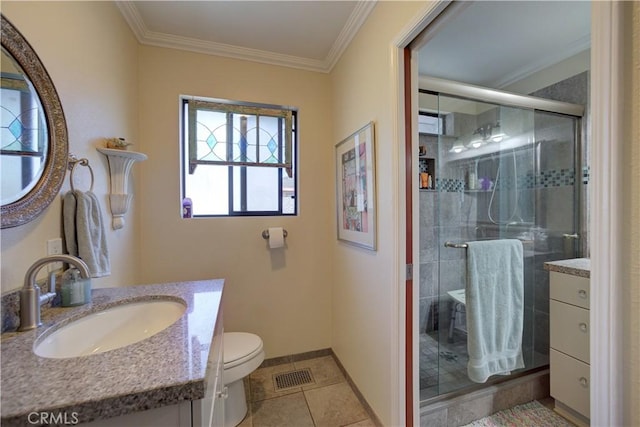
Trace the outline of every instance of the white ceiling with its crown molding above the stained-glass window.
[[118, 1], [140, 43], [329, 72], [375, 7], [358, 1]]

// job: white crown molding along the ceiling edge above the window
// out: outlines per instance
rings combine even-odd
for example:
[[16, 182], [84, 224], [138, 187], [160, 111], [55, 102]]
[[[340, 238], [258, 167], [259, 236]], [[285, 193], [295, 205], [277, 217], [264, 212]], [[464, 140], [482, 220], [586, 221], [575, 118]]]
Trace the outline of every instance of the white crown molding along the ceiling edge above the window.
[[120, 9], [125, 21], [140, 44], [260, 62], [263, 64], [298, 68], [321, 73], [331, 72], [335, 64], [349, 46], [351, 40], [353, 40], [360, 27], [366, 21], [376, 3], [377, 0], [358, 1], [358, 4], [351, 15], [349, 15], [344, 28], [338, 35], [334, 44], [331, 46], [331, 49], [325, 59], [317, 60], [150, 31], [142, 20], [142, 17], [138, 13], [133, 2], [116, 1], [118, 9]]

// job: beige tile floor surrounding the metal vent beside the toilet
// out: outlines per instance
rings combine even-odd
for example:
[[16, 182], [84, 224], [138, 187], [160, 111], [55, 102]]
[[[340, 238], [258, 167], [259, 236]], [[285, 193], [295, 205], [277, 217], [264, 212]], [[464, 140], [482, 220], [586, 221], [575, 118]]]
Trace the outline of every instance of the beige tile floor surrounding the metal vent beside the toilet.
[[[274, 374], [308, 368], [314, 382], [276, 391]], [[259, 368], [245, 379], [247, 416], [240, 427], [373, 427], [333, 356]]]

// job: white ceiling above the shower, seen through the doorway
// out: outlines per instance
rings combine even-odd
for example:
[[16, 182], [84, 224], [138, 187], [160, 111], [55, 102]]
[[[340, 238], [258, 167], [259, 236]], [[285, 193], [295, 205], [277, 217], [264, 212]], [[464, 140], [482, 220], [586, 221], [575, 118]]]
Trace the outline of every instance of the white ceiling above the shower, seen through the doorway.
[[469, 2], [420, 49], [418, 68], [422, 75], [503, 88], [590, 44], [588, 1]]

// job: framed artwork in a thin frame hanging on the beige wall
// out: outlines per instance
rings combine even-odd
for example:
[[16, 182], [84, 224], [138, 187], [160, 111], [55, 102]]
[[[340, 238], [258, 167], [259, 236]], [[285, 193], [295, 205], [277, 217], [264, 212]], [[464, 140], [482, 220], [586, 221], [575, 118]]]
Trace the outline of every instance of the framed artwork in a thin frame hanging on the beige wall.
[[376, 250], [376, 168], [374, 123], [335, 147], [338, 240]]

